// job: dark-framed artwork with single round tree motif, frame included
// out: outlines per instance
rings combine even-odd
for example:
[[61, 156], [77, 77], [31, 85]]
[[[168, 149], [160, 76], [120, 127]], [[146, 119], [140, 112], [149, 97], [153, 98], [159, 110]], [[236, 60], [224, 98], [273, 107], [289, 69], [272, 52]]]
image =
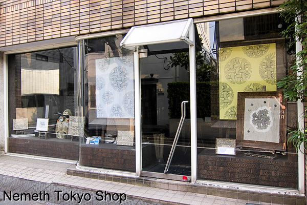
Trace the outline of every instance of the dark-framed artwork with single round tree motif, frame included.
[[238, 92], [237, 146], [286, 151], [282, 92]]

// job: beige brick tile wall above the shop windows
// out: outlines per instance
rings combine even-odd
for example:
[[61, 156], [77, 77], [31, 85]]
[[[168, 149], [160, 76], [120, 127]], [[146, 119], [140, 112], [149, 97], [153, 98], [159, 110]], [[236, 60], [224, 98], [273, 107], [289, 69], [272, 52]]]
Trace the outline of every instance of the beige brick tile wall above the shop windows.
[[0, 1], [0, 47], [167, 20], [277, 7], [283, 0]]

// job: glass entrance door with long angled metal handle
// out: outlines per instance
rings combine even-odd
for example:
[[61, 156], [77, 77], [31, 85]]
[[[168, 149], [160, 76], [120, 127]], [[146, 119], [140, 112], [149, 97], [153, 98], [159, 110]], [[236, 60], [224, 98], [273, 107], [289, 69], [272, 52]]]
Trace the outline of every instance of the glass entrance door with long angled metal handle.
[[189, 70], [184, 67], [170, 67], [170, 56], [174, 55], [156, 54], [140, 58], [141, 174], [189, 181]]

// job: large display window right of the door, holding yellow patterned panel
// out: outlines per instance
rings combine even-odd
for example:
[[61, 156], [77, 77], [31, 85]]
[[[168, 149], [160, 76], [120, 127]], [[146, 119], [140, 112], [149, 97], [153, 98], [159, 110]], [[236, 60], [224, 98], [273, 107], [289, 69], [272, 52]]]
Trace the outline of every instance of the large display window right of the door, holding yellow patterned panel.
[[[279, 14], [268, 14], [196, 24], [202, 34], [205, 65], [210, 68], [210, 89], [196, 92], [203, 92], [204, 97], [209, 93], [211, 104], [209, 115], [198, 114], [199, 179], [297, 189], [295, 149], [279, 134], [279, 129], [286, 132], [286, 126], [293, 126], [295, 104], [264, 107], [276, 100], [258, 99], [268, 91], [278, 91], [276, 81], [287, 74], [288, 59], [293, 57], [287, 52], [287, 40], [280, 37], [280, 22]], [[238, 98], [242, 92], [252, 96], [245, 103]], [[263, 109], [257, 110], [256, 106]], [[251, 117], [242, 118], [242, 113], [251, 112]], [[260, 116], [260, 112], [268, 114]], [[269, 113], [278, 116], [269, 118]], [[273, 119], [278, 120], [276, 125]], [[261, 132], [250, 133], [254, 129], [247, 129], [256, 126]], [[227, 146], [216, 146], [217, 140], [226, 145], [229, 139], [232, 144], [236, 142], [235, 155], [221, 152], [229, 149]]]

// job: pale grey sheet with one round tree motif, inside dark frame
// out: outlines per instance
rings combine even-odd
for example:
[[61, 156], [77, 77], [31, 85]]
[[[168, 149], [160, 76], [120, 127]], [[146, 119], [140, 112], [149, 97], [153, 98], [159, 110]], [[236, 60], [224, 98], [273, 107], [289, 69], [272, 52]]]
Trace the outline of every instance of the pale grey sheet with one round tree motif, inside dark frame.
[[246, 98], [244, 140], [279, 143], [279, 98]]

